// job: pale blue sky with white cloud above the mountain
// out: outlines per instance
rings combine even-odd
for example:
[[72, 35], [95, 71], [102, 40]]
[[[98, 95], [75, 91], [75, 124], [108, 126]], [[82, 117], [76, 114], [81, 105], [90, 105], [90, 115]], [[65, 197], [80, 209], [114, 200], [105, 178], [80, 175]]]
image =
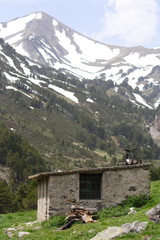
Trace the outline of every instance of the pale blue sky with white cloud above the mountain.
[[160, 47], [160, 0], [0, 0], [0, 22], [36, 11], [107, 44]]

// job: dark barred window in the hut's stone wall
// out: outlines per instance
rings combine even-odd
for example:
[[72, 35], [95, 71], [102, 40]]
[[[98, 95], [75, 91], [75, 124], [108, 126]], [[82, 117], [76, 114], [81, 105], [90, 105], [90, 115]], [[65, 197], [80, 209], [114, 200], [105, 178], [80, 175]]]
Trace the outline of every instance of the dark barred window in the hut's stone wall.
[[102, 174], [80, 174], [80, 199], [101, 198]]

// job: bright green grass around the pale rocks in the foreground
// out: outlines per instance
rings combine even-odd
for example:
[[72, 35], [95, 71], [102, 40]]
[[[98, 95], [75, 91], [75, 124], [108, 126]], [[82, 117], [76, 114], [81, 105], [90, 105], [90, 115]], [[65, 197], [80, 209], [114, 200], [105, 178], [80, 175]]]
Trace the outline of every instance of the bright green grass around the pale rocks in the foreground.
[[[32, 227], [25, 227], [26, 231], [31, 234], [24, 237], [27, 240], [89, 240], [98, 232], [106, 229], [109, 226], [121, 226], [127, 222], [133, 221], [148, 221], [145, 212], [160, 203], [160, 181], [151, 183], [151, 200], [144, 207], [137, 209], [135, 215], [125, 215], [122, 217], [101, 218], [97, 223], [92, 224], [75, 224], [70, 229], [59, 231], [54, 228], [41, 227], [40, 229], [33, 229]], [[8, 237], [3, 233], [3, 228], [18, 226], [19, 223], [34, 221], [36, 219], [36, 212], [15, 213], [0, 215], [0, 240], [6, 240]], [[160, 223], [149, 222], [148, 227], [142, 233], [131, 233], [116, 239], [144, 239], [145, 236], [150, 236], [151, 240], [160, 239]], [[18, 239], [14, 237], [13, 239]]]

